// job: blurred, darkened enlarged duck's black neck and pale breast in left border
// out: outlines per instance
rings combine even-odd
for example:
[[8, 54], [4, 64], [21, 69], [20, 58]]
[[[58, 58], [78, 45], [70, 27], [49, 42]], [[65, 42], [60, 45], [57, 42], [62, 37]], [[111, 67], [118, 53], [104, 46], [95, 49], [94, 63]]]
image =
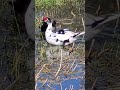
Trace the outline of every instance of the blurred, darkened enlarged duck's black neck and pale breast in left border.
[[[33, 41], [35, 40], [34, 26], [35, 26], [35, 7], [34, 0], [16, 0], [9, 2], [14, 6], [15, 15], [21, 31], [26, 31]], [[23, 28], [21, 28], [21, 26]]]

